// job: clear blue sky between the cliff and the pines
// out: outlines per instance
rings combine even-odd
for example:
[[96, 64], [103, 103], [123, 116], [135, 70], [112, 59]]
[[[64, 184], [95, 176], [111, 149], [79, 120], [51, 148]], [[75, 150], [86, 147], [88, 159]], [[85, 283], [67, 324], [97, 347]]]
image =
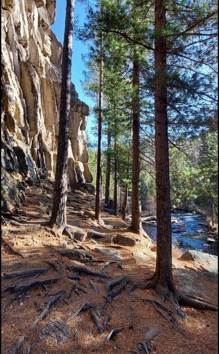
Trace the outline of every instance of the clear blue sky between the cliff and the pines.
[[[57, 0], [57, 13], [56, 13], [56, 21], [51, 26], [52, 31], [56, 34], [58, 40], [63, 44], [64, 39], [64, 30], [65, 30], [65, 9], [66, 9], [66, 1], [65, 0]], [[77, 17], [79, 20], [78, 26], [83, 26], [85, 20], [85, 11], [84, 5], [76, 2], [75, 4], [75, 18]], [[80, 100], [84, 101], [89, 107], [94, 107], [94, 102], [92, 99], [87, 97], [81, 85], [80, 80], [83, 80], [83, 70], [86, 69], [84, 63], [82, 61], [81, 55], [86, 54], [87, 47], [81, 41], [76, 39], [74, 35], [73, 38], [73, 48], [72, 48], [72, 58], [71, 58], [71, 81], [76, 86], [76, 91], [78, 92]], [[96, 140], [96, 137], [92, 134], [91, 128], [95, 126], [94, 117], [90, 114], [87, 120], [87, 133], [92, 141], [92, 143]]]

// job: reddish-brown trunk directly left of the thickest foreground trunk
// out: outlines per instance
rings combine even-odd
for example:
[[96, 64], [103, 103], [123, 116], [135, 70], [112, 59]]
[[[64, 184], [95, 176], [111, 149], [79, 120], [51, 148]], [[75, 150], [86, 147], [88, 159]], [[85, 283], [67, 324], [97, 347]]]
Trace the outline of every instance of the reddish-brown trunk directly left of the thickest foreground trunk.
[[133, 87], [135, 95], [132, 99], [132, 225], [134, 233], [142, 233], [141, 224], [141, 198], [140, 198], [140, 107], [139, 107], [139, 58], [134, 55], [133, 61]]

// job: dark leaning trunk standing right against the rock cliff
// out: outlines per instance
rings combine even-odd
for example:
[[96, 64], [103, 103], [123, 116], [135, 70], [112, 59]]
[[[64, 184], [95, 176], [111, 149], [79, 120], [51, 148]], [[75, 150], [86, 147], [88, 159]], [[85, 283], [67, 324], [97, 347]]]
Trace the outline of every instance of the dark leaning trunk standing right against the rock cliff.
[[71, 51], [74, 25], [75, 0], [66, 1], [65, 34], [62, 59], [62, 83], [60, 97], [59, 140], [57, 150], [56, 179], [50, 224], [66, 226], [67, 155], [69, 138]]

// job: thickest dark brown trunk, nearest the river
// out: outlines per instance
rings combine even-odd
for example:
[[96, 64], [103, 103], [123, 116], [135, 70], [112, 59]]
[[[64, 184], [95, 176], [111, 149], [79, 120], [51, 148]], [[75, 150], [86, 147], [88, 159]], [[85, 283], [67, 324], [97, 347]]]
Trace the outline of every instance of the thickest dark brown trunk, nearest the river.
[[157, 260], [155, 278], [161, 287], [173, 286], [172, 228], [167, 117], [167, 64], [163, 0], [155, 0], [155, 163], [157, 209]]

